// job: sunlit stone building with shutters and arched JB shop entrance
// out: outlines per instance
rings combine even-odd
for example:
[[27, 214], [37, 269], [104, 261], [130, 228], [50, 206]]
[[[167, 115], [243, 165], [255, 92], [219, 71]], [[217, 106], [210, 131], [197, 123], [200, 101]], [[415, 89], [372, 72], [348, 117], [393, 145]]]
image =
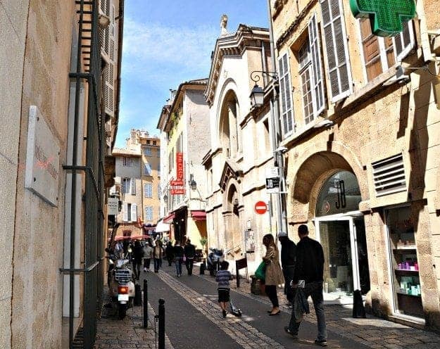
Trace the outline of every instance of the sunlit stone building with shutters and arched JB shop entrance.
[[322, 243], [328, 296], [360, 289], [376, 315], [440, 331], [440, 23], [416, 3], [389, 38], [349, 1], [271, 11], [289, 235], [307, 224]]

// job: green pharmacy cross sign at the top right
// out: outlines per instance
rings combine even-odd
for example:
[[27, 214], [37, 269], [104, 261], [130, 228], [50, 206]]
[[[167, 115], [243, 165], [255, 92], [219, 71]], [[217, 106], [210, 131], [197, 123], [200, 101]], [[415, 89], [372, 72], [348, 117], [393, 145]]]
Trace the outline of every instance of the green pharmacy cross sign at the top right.
[[415, 17], [414, 0], [350, 0], [356, 18], [370, 18], [373, 34], [394, 37], [402, 32], [402, 23]]

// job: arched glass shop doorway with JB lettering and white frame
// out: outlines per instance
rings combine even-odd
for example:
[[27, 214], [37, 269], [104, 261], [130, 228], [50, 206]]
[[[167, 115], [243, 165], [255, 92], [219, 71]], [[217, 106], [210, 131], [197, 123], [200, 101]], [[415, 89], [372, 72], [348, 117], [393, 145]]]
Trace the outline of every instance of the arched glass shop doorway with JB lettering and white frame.
[[370, 290], [367, 241], [356, 176], [339, 170], [322, 184], [315, 207], [317, 239], [324, 250], [324, 289], [335, 298]]

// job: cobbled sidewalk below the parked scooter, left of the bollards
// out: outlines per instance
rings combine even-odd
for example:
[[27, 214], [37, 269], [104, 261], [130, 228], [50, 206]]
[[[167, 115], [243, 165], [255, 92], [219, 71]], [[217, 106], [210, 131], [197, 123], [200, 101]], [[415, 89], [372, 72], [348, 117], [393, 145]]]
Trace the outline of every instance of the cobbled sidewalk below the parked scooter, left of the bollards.
[[[95, 349], [156, 349], [158, 324], [155, 322], [153, 308], [148, 305], [148, 327], [144, 329], [142, 319], [142, 305], [127, 310], [125, 319], [120, 320], [113, 316], [112, 309], [103, 309], [101, 319], [97, 324]], [[165, 334], [165, 348], [174, 349]]]

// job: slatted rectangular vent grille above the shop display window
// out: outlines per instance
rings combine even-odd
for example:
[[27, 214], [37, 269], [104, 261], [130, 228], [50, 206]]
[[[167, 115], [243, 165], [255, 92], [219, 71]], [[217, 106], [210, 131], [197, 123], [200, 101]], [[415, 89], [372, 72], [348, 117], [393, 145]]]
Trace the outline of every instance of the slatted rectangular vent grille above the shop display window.
[[376, 196], [384, 196], [406, 190], [402, 154], [390, 156], [371, 165]]

